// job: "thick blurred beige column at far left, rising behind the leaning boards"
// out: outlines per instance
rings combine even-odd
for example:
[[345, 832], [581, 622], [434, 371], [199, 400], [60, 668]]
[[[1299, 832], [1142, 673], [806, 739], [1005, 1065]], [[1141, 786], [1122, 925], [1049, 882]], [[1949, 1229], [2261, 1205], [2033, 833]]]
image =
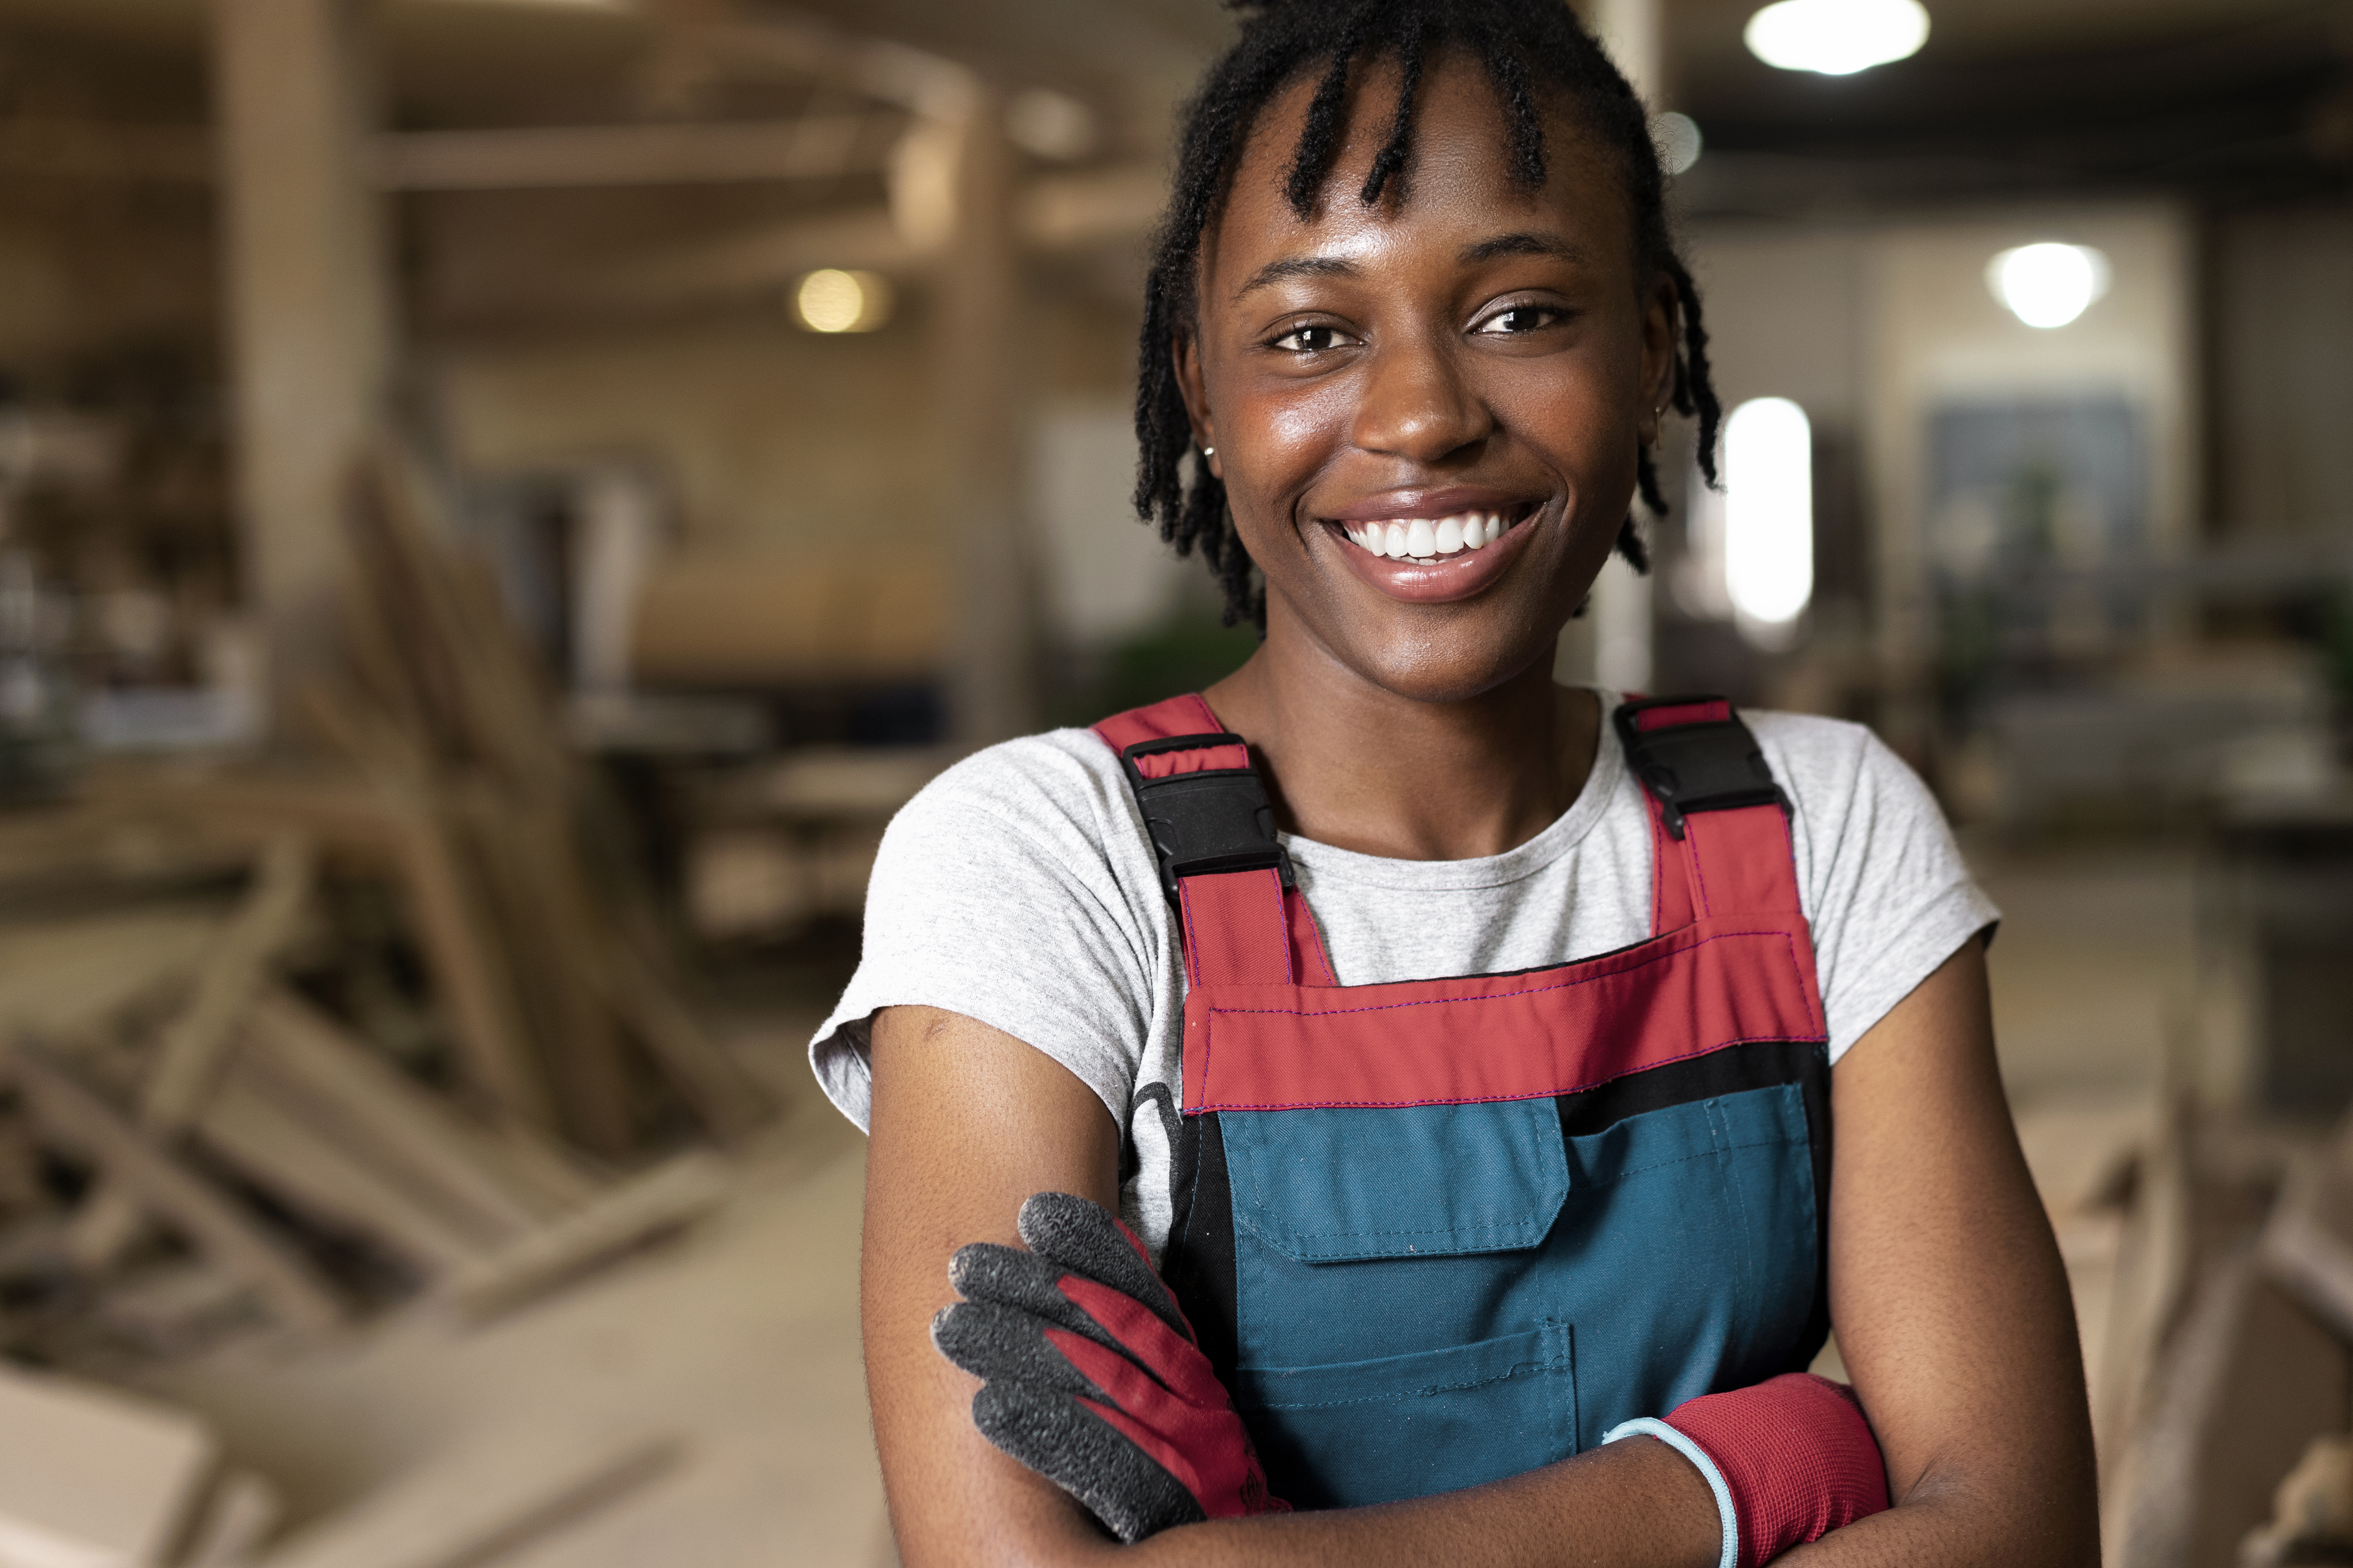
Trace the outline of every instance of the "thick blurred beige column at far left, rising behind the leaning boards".
[[393, 362], [369, 21], [362, 0], [212, 0], [240, 543], [275, 693], [332, 646], [346, 487]]

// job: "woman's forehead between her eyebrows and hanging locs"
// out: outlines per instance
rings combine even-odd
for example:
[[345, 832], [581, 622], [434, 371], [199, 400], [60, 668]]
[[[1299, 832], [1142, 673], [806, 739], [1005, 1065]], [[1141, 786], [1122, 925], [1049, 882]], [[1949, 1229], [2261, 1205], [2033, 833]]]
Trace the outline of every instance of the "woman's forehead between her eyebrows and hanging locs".
[[1247, 275], [1278, 252], [1379, 237], [1428, 242], [1454, 254], [1499, 228], [1560, 230], [1595, 259], [1633, 261], [1633, 228], [1617, 160], [1553, 94], [1539, 94], [1546, 181], [1513, 179], [1513, 120], [1487, 68], [1457, 49], [1424, 63], [1414, 94], [1412, 155], [1379, 202], [1360, 200], [1398, 115], [1398, 61], [1358, 61], [1337, 158], [1306, 219], [1285, 186], [1322, 80], [1318, 61], [1259, 113], [1235, 165], [1224, 209], [1205, 235], [1202, 282]]

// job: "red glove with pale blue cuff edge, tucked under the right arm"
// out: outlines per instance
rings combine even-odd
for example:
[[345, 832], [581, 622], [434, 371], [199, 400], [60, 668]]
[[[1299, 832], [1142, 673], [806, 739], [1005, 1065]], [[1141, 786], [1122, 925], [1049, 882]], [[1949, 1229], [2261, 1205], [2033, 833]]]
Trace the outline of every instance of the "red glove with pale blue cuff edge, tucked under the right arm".
[[1887, 1507], [1887, 1462], [1845, 1382], [1781, 1373], [1687, 1399], [1666, 1420], [1602, 1434], [1654, 1436], [1699, 1467], [1725, 1526], [1720, 1568], [1755, 1568]]

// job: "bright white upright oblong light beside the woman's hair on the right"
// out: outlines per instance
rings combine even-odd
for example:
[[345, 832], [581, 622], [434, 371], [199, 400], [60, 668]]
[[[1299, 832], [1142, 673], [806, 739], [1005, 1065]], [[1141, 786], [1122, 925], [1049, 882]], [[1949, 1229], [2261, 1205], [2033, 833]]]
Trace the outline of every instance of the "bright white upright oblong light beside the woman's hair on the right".
[[1725, 590], [1762, 625], [1814, 597], [1814, 425], [1788, 397], [1751, 397], [1725, 421]]

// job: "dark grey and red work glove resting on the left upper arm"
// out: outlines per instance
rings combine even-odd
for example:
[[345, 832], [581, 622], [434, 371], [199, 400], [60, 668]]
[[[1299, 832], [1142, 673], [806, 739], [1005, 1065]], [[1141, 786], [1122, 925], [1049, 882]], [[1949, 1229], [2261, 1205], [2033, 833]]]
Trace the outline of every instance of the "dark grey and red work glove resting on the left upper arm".
[[1169, 1526], [1287, 1514], [1242, 1418], [1144, 1244], [1099, 1204], [1021, 1204], [1031, 1251], [976, 1241], [932, 1319], [939, 1354], [981, 1380], [972, 1425], [1078, 1497], [1122, 1542]]

